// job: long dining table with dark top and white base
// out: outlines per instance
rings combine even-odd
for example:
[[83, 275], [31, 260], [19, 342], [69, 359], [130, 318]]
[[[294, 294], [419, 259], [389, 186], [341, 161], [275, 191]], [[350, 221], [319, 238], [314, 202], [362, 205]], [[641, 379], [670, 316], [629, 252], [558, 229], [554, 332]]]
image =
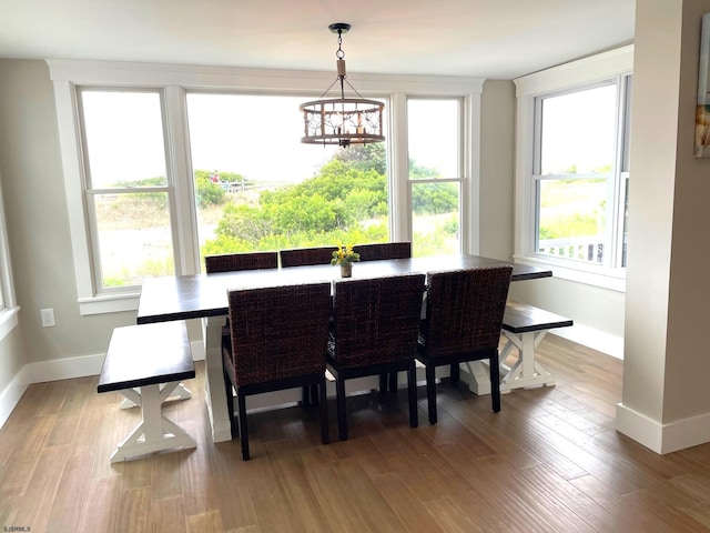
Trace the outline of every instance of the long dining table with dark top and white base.
[[[426, 274], [428, 272], [501, 264], [513, 266], [511, 281], [534, 280], [552, 275], [550, 270], [471, 254], [364, 261], [354, 265], [352, 275], [354, 279], [372, 279], [413, 272]], [[143, 280], [142, 284], [136, 323], [149, 324], [201, 319], [205, 358], [205, 403], [211, 424], [211, 434], [214, 442], [229, 441], [232, 439], [232, 429], [227, 412], [221, 349], [222, 326], [225, 324], [229, 309], [227, 291], [315, 281], [334, 283], [338, 280], [341, 280], [341, 269], [329, 264], [148, 278]], [[471, 392], [477, 394], [486, 393], [485, 386], [488, 378], [484, 378], [485, 372], [481, 369], [471, 368], [468, 374]], [[466, 379], [464, 369], [462, 370], [462, 379]], [[365, 390], [362, 388], [368, 386], [367, 384], [357, 383], [356, 380], [353, 381], [354, 383], [351, 386], [356, 390]], [[357, 389], [358, 386], [361, 389]], [[254, 404], [247, 405], [247, 408], [254, 409], [296, 401], [298, 399], [297, 392], [292, 391], [290, 396], [262, 398], [261, 400], [255, 398]], [[487, 392], [490, 392], [489, 384]]]

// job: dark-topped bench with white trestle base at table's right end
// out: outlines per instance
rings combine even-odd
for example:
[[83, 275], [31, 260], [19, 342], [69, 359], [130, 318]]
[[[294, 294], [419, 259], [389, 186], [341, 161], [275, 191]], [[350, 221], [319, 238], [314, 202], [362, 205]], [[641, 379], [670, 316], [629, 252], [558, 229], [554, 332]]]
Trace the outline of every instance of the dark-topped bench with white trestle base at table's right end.
[[[526, 303], [508, 301], [503, 318], [503, 334], [508, 342], [500, 352], [500, 369], [505, 372], [500, 382], [500, 392], [554, 385], [552, 375], [535, 360], [535, 349], [549, 330], [567, 328], [572, 323], [570, 319], [559, 314]], [[504, 362], [514, 346], [518, 349], [519, 356], [516, 363], [509, 366]]]

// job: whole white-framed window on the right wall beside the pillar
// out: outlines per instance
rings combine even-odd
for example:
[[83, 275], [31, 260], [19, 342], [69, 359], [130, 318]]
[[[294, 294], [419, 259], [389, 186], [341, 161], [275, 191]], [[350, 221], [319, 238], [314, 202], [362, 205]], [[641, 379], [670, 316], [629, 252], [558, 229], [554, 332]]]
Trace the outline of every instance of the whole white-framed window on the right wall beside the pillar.
[[555, 275], [622, 286], [589, 275], [623, 280], [631, 58], [621, 49], [516, 80], [516, 257], [555, 265]]

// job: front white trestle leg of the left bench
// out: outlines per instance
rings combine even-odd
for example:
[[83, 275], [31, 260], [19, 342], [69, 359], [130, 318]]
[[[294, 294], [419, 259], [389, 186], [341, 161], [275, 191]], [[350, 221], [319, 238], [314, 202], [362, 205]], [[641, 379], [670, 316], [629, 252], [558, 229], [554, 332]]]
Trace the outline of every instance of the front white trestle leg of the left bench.
[[140, 393], [143, 421], [118, 445], [111, 462], [172, 449], [195, 447], [195, 440], [161, 414], [160, 385], [144, 385]]

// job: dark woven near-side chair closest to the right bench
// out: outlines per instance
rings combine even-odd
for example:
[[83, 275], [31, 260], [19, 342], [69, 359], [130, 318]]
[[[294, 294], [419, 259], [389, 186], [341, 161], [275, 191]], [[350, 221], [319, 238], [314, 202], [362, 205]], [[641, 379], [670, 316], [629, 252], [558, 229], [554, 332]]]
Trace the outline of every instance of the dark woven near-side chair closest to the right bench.
[[435, 370], [444, 364], [450, 365], [455, 383], [460, 363], [487, 359], [493, 411], [500, 411], [498, 343], [511, 272], [511, 266], [500, 265], [427, 273], [417, 359], [426, 368], [430, 424], [437, 421]]

